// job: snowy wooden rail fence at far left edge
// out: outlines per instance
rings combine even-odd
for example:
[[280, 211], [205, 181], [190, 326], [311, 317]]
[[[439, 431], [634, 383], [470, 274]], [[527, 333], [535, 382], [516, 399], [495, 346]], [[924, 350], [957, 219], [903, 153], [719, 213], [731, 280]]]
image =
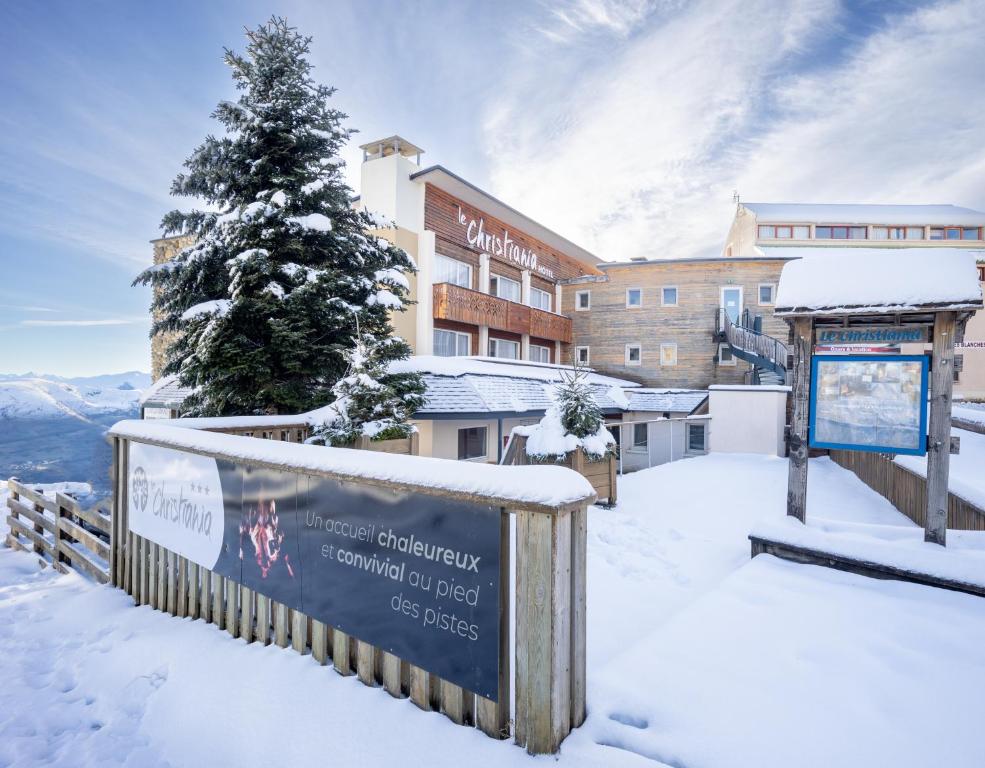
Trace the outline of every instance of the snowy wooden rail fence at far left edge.
[[16, 478], [7, 486], [11, 547], [37, 552], [59, 571], [74, 568], [100, 583], [109, 581], [112, 520], [104, 503], [83, 509], [71, 496], [56, 493], [52, 499]]

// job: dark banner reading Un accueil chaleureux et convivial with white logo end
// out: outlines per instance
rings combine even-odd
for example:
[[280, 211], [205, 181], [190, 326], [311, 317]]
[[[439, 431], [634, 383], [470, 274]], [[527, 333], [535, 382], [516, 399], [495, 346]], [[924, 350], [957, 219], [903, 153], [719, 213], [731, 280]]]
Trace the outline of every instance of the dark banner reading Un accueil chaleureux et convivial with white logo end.
[[497, 700], [500, 510], [130, 443], [130, 529]]

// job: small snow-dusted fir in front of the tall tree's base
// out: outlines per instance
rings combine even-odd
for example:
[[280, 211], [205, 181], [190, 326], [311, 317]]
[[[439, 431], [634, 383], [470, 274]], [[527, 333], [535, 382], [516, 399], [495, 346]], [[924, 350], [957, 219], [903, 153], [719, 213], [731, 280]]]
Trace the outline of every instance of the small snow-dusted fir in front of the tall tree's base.
[[360, 336], [347, 354], [349, 370], [336, 383], [335, 402], [328, 417], [315, 429], [313, 443], [347, 445], [365, 435], [373, 440], [408, 437], [408, 419], [424, 404], [424, 383], [416, 373], [390, 373], [387, 347], [382, 341]]

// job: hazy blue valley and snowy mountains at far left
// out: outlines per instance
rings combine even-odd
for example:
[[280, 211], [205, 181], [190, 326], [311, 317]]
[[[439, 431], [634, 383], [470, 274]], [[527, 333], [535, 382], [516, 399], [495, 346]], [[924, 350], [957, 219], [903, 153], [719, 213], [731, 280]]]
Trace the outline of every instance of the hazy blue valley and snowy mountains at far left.
[[65, 378], [0, 374], [0, 479], [87, 482], [109, 492], [106, 431], [135, 418], [150, 376], [139, 371]]

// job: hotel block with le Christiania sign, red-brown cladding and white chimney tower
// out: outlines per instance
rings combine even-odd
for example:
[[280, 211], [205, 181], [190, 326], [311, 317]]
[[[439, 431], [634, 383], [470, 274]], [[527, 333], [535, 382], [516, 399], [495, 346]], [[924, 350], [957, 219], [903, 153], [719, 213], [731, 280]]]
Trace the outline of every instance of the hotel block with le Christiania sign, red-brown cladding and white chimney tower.
[[561, 284], [599, 275], [600, 259], [440, 165], [399, 136], [362, 145], [357, 204], [416, 261], [396, 332], [419, 355], [558, 363], [572, 343]]

